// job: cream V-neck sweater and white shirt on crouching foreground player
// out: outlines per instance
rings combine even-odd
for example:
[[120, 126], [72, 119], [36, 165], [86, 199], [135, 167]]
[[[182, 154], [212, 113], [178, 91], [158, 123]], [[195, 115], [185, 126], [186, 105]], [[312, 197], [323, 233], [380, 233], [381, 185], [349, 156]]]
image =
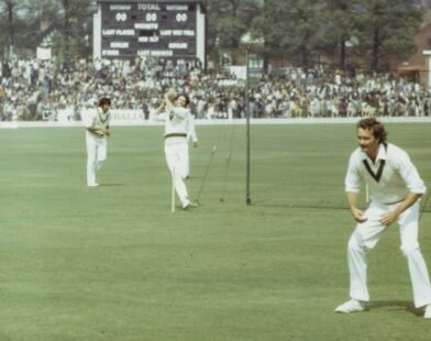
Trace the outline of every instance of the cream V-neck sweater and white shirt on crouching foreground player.
[[352, 153], [345, 191], [358, 193], [364, 182], [371, 199], [385, 205], [400, 202], [409, 193], [427, 191], [409, 155], [391, 143], [380, 143], [375, 163], [360, 147]]

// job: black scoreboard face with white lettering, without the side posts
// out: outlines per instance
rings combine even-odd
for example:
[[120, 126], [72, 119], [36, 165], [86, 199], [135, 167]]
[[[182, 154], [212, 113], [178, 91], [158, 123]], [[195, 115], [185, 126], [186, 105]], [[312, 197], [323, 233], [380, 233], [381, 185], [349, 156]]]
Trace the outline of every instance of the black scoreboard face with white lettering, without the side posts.
[[101, 3], [101, 57], [196, 58], [194, 3]]

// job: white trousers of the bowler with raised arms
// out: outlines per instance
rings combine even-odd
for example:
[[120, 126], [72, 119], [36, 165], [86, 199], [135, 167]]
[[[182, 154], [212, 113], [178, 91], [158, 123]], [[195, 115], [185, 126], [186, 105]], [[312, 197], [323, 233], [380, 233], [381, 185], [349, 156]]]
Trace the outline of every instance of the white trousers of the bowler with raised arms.
[[169, 138], [165, 140], [165, 157], [174, 182], [175, 191], [183, 208], [190, 204], [185, 177], [188, 175], [188, 144], [186, 139]]

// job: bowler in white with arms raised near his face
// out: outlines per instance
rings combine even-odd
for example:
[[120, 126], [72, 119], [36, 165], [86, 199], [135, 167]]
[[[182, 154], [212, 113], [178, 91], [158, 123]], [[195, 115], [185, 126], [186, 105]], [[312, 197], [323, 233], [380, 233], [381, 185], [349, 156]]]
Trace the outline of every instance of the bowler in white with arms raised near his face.
[[189, 99], [186, 95], [178, 95], [176, 105], [173, 95], [165, 95], [164, 103], [157, 108], [157, 114], [165, 110], [165, 157], [174, 180], [175, 191], [184, 209], [197, 206], [190, 202], [184, 179], [188, 175], [188, 124], [190, 110], [187, 108]]

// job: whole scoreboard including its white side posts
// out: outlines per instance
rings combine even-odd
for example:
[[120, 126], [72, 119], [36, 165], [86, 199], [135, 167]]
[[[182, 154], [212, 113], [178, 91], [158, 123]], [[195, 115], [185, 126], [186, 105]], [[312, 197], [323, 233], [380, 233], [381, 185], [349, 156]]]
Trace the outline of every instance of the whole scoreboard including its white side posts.
[[203, 0], [98, 0], [93, 58], [196, 61], [206, 65]]

